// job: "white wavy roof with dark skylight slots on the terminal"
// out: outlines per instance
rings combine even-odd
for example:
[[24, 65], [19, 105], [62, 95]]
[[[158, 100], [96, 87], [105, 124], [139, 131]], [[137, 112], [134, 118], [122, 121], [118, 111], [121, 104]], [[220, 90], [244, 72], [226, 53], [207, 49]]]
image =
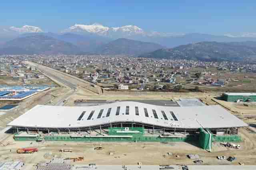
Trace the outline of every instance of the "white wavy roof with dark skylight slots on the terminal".
[[[118, 106], [120, 106], [120, 114], [116, 115]], [[129, 114], [126, 114], [126, 106], [129, 106]], [[135, 107], [138, 107], [139, 115], [136, 115]], [[106, 114], [109, 108], [112, 109], [110, 115], [107, 117]], [[148, 117], [145, 116], [144, 108], [148, 111]], [[97, 118], [101, 109], [103, 109], [102, 115], [100, 118]], [[156, 111], [158, 119], [154, 117], [152, 109]], [[84, 111], [84, 116], [79, 121], [78, 118]], [[92, 111], [94, 111], [94, 114], [88, 120]], [[164, 111], [168, 120], [164, 119], [162, 111]], [[176, 120], [174, 120], [170, 111], [176, 116]], [[112, 104], [86, 107], [37, 105], [8, 125], [13, 127], [76, 128], [120, 121], [184, 129], [247, 126], [242, 120], [218, 105], [166, 107], [139, 102], [115, 102]]]

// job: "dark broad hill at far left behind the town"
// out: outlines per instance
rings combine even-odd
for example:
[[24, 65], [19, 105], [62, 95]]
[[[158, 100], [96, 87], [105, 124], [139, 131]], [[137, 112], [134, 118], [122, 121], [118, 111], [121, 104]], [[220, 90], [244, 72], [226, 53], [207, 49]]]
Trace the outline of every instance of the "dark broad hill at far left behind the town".
[[6, 42], [0, 48], [3, 54], [76, 54], [80, 48], [72, 43], [60, 41], [46, 35], [22, 36]]

